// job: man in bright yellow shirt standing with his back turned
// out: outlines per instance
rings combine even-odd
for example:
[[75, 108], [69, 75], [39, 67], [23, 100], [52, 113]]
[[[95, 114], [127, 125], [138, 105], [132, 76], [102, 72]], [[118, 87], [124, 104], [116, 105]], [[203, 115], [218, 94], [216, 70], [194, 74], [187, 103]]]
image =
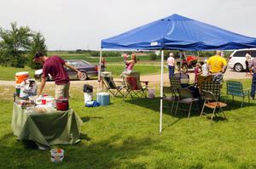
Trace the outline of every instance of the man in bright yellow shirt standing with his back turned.
[[207, 61], [209, 73], [212, 74], [212, 81], [222, 82], [224, 72], [227, 70], [227, 61], [221, 57], [221, 51], [216, 51], [216, 55]]

